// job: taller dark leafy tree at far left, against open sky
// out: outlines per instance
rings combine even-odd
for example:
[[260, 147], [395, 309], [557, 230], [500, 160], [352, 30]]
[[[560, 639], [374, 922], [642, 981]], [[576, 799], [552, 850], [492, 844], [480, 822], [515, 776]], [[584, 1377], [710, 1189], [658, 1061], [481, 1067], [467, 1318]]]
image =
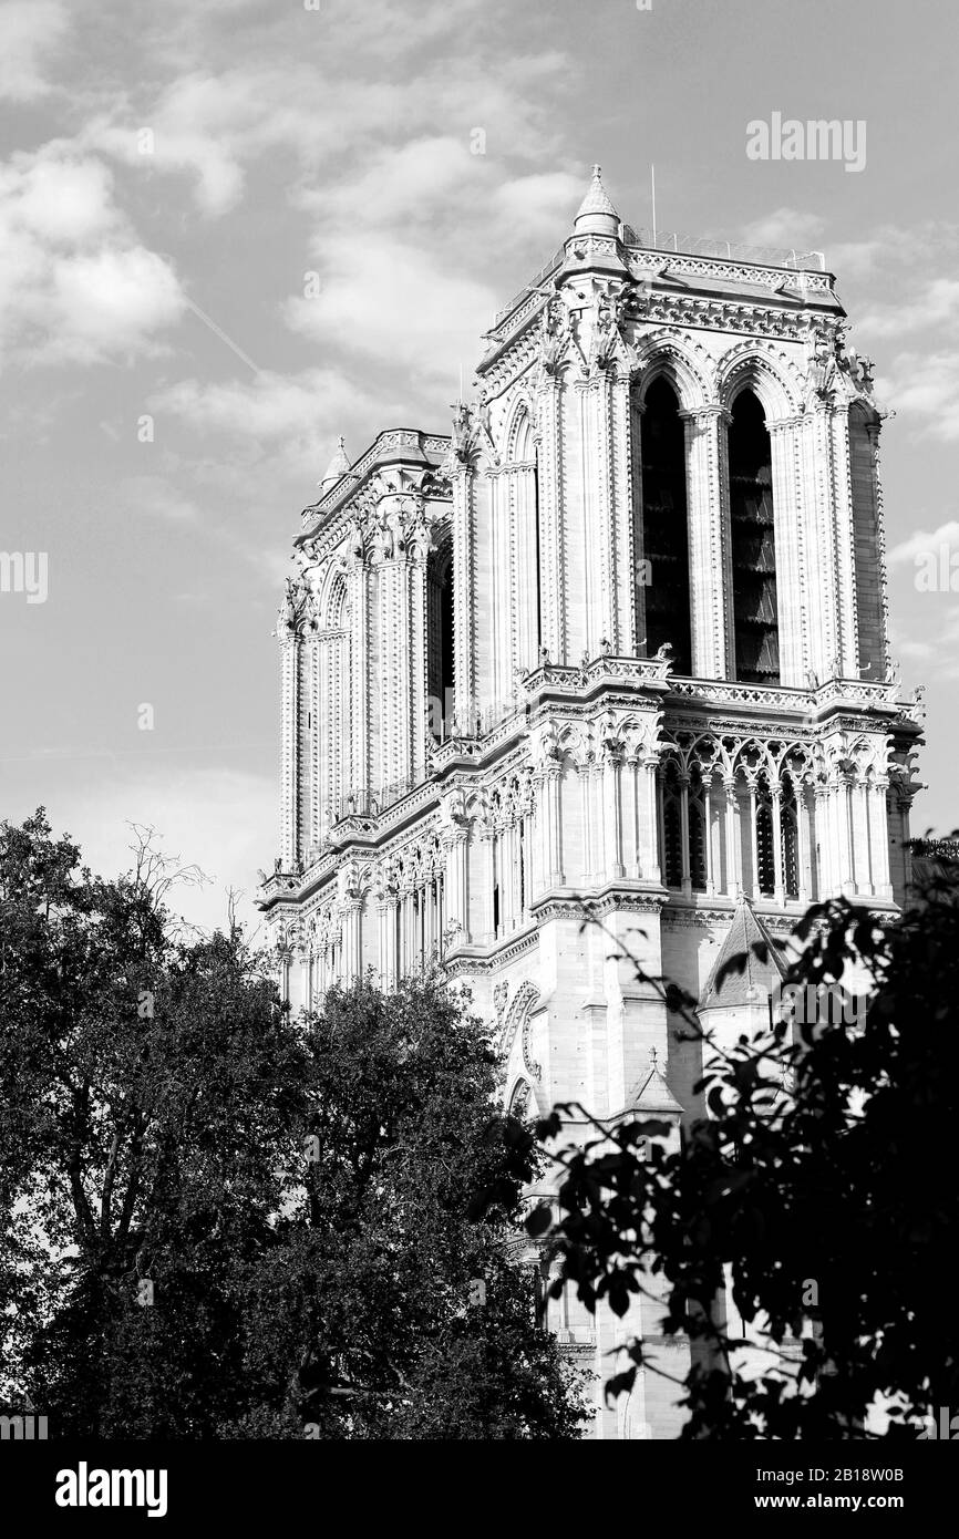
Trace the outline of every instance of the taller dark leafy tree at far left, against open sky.
[[185, 943], [169, 865], [115, 882], [0, 826], [6, 1360], [58, 1436], [236, 1414], [236, 1271], [271, 1244], [308, 1059], [239, 933]]

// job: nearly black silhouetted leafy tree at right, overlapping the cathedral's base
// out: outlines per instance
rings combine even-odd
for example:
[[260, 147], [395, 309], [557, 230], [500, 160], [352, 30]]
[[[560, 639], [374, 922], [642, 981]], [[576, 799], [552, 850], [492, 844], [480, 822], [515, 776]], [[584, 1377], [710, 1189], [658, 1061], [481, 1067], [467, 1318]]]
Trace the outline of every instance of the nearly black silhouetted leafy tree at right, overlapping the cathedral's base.
[[[957, 868], [941, 865], [891, 926], [836, 899], [797, 939], [784, 996], [819, 1008], [717, 1056], [702, 1087], [711, 1116], [679, 1151], [656, 1122], [594, 1123], [585, 1148], [560, 1154], [556, 1207], [528, 1224], [548, 1231], [554, 1296], [571, 1285], [622, 1316], [665, 1280], [663, 1330], [693, 1342], [683, 1437], [916, 1437], [959, 1407]], [[702, 1036], [696, 1000], [663, 993], [680, 1030]], [[844, 1008], [825, 1008], [836, 999]], [[539, 1123], [553, 1145], [565, 1110]], [[768, 1353], [760, 1373], [727, 1331], [723, 1280]], [[642, 1344], [628, 1359], [608, 1394], [631, 1387]]]

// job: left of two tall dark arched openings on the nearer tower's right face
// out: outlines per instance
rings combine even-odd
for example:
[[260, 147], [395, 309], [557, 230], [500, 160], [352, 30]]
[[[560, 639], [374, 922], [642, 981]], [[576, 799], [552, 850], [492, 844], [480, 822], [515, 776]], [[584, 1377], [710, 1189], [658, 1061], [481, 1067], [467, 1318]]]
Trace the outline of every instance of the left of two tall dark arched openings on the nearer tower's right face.
[[639, 428], [642, 449], [642, 563], [647, 657], [668, 642], [677, 674], [693, 671], [690, 634], [690, 539], [687, 531], [687, 436], [676, 392], [665, 379], [647, 391]]

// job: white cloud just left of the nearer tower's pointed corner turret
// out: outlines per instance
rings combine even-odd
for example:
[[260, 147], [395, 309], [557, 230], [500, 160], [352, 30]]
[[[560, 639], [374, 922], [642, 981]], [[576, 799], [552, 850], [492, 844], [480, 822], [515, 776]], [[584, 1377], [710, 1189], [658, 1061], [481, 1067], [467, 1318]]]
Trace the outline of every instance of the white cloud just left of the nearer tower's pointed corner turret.
[[342, 186], [303, 191], [314, 217], [320, 291], [291, 299], [288, 325], [343, 351], [402, 366], [413, 385], [456, 385], [479, 334], [503, 300], [485, 277], [493, 252], [525, 252], [531, 275], [571, 225], [582, 179], [566, 172], [505, 175], [473, 155], [466, 135], [380, 148]]

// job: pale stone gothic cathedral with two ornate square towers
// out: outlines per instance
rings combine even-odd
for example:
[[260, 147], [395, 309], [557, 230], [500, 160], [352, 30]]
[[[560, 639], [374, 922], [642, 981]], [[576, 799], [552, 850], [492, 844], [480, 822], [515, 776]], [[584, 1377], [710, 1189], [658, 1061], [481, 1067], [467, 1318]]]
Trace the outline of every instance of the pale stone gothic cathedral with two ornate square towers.
[[[451, 432], [353, 465], [340, 442], [277, 628], [260, 902], [294, 1005], [437, 956], [496, 1022], [510, 1107], [640, 1108], [679, 1137], [697, 1048], [614, 953], [702, 996], [747, 900], [780, 936], [830, 894], [896, 911], [921, 705], [888, 657], [882, 412], [845, 334], [820, 263], [645, 245], [596, 169]], [[656, 1313], [570, 1300], [553, 1325], [608, 1374]], [[597, 1436], [676, 1436], [673, 1397], [640, 1376]]]

